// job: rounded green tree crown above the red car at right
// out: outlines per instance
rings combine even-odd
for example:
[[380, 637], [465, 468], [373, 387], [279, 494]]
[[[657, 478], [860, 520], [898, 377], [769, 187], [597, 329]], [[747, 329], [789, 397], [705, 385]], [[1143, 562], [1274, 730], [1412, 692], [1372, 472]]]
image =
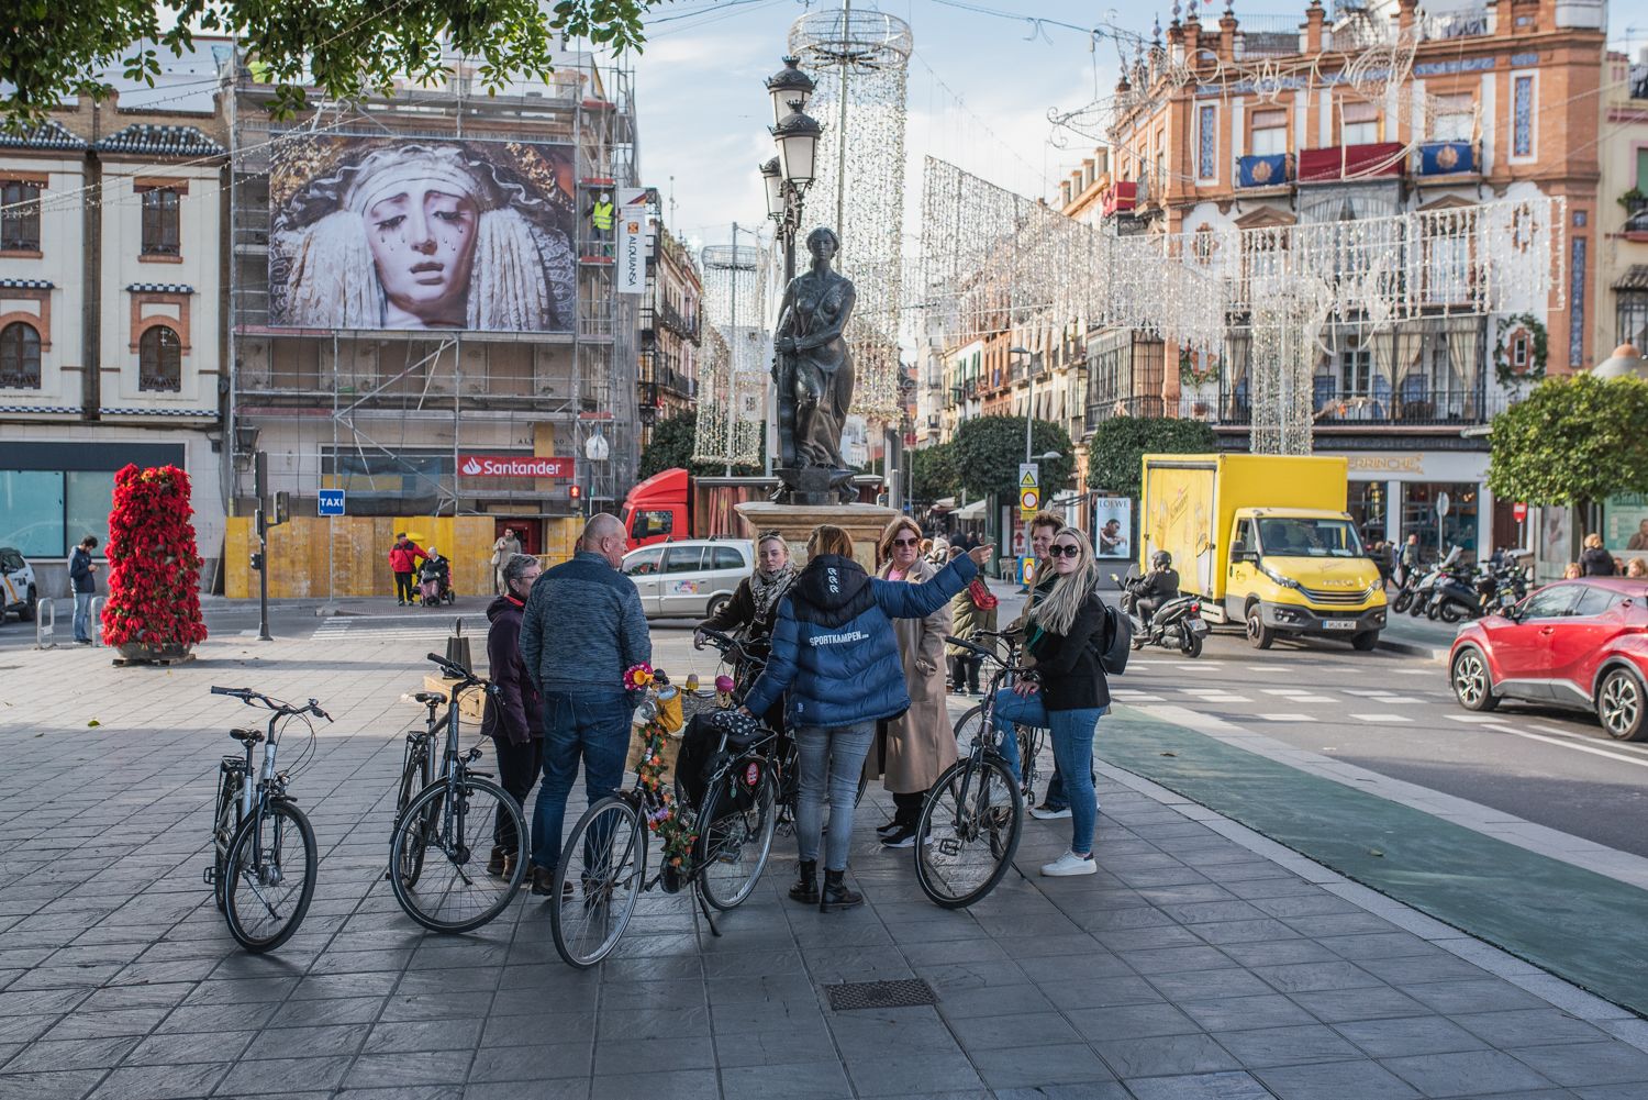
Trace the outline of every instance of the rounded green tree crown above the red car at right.
[[1529, 505], [1648, 491], [1648, 381], [1547, 378], [1493, 417], [1488, 488]]

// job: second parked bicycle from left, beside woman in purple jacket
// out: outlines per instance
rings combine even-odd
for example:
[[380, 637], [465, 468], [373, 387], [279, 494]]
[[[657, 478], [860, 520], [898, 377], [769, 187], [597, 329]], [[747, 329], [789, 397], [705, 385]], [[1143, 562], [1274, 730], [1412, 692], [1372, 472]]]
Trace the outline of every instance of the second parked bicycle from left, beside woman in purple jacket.
[[432, 716], [443, 701], [447, 714], [430, 721], [422, 750], [409, 737], [402, 795], [414, 777], [422, 775], [442, 724], [445, 749], [440, 770], [396, 815], [389, 838], [389, 886], [400, 909], [430, 932], [473, 932], [508, 909], [526, 879], [526, 859], [516, 859], [508, 877], [486, 871], [494, 838], [513, 826], [517, 841], [524, 839], [526, 820], [514, 797], [491, 782], [489, 772], [470, 769], [481, 759], [481, 749], [458, 749], [460, 696], [471, 688], [493, 694], [496, 688], [440, 655], [430, 653], [428, 660], [458, 683], [437, 703], [420, 699]]

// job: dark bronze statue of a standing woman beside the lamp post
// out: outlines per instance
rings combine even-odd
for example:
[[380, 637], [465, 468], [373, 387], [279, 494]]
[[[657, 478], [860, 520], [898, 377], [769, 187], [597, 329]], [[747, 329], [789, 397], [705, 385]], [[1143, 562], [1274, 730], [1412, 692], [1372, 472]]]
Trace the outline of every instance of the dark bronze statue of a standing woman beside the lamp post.
[[773, 333], [773, 379], [778, 384], [778, 445], [789, 468], [840, 470], [840, 432], [852, 406], [852, 355], [847, 351], [847, 318], [855, 290], [852, 280], [831, 269], [840, 251], [832, 229], [808, 234], [812, 269], [784, 289]]

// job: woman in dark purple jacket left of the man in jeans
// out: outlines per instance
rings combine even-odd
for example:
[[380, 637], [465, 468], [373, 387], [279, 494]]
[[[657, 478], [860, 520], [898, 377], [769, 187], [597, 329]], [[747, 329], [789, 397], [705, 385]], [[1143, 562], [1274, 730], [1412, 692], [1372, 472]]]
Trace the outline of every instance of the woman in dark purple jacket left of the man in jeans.
[[[486, 618], [493, 623], [486, 632], [486, 666], [499, 696], [486, 701], [481, 734], [493, 739], [499, 785], [524, 806], [544, 765], [544, 704], [521, 660], [521, 617], [542, 566], [531, 554], [516, 554], [503, 564], [501, 572], [504, 594], [486, 609]], [[514, 821], [498, 806], [493, 858], [486, 869], [508, 879], [519, 858], [521, 838], [514, 834]]]

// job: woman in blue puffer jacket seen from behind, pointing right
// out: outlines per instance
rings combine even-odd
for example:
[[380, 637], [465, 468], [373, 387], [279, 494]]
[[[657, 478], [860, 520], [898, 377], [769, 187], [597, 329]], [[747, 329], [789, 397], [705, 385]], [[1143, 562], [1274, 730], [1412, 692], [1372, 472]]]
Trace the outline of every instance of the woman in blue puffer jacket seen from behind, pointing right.
[[[864, 900], [842, 882], [852, 846], [852, 808], [875, 722], [910, 709], [905, 666], [890, 618], [926, 618], [990, 559], [981, 546], [926, 584], [880, 581], [852, 559], [852, 536], [821, 524], [808, 539], [808, 566], [778, 605], [773, 655], [750, 688], [747, 712], [765, 714], [788, 691], [784, 719], [801, 749], [796, 846], [801, 877], [789, 897], [821, 912]], [[829, 782], [829, 848], [824, 889], [817, 858]]]

